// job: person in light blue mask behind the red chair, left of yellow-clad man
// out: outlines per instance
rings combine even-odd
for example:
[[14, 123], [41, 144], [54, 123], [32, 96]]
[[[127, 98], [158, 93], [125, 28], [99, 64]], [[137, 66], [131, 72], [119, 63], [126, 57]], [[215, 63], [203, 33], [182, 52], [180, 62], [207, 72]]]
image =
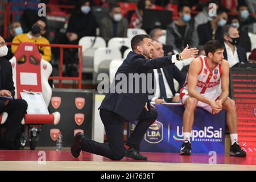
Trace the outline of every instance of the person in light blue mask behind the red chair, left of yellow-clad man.
[[[14, 21], [8, 27], [9, 30], [9, 38], [5, 39], [6, 42], [13, 42], [14, 36], [23, 34], [23, 30], [21, 24], [18, 21]], [[11, 52], [11, 46], [8, 47], [8, 53], [5, 56], [5, 59], [10, 60], [13, 57], [13, 53]]]

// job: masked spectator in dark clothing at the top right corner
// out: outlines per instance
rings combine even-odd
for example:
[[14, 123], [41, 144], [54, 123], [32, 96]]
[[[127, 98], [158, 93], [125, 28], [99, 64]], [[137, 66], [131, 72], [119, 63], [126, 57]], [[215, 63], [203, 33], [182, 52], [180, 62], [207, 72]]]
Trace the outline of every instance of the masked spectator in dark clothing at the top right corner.
[[248, 6], [245, 3], [242, 3], [241, 5], [238, 6], [238, 12], [239, 12], [239, 24], [240, 27], [248, 31], [248, 26], [251, 23], [255, 23], [256, 19], [253, 16], [250, 16]]

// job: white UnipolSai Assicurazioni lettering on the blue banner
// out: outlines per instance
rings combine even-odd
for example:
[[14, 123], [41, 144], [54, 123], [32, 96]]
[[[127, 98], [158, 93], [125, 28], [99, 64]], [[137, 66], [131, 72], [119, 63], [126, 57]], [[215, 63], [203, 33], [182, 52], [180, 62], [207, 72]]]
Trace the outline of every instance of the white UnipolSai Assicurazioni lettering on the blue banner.
[[[176, 134], [173, 135], [176, 141], [183, 140], [183, 127], [177, 126]], [[204, 130], [192, 130], [192, 141], [222, 142], [222, 128], [214, 130], [213, 126], [204, 127]]]

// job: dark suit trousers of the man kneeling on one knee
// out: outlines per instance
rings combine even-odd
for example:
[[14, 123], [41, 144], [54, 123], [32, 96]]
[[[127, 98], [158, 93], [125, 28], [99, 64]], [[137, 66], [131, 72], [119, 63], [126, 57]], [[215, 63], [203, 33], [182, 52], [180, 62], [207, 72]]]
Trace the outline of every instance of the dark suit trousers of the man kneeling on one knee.
[[[101, 121], [105, 126], [108, 144], [99, 143], [94, 140], [82, 140], [82, 150], [93, 154], [105, 156], [112, 160], [121, 160], [125, 155], [123, 140], [123, 129], [126, 119], [108, 110], [100, 110]], [[138, 124], [133, 133], [127, 139], [129, 145], [139, 146], [148, 127], [155, 121], [157, 111], [151, 107], [150, 111], [143, 109], [139, 115]]]

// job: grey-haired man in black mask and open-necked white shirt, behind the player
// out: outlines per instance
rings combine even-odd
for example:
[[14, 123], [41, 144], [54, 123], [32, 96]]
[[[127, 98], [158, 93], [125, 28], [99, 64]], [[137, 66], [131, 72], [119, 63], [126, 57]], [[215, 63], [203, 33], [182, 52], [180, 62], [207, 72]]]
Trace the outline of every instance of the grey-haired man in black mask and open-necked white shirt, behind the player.
[[224, 38], [224, 59], [228, 60], [229, 67], [233, 67], [237, 63], [246, 63], [246, 51], [244, 48], [237, 46], [240, 36], [238, 30], [233, 25], [223, 27]]

